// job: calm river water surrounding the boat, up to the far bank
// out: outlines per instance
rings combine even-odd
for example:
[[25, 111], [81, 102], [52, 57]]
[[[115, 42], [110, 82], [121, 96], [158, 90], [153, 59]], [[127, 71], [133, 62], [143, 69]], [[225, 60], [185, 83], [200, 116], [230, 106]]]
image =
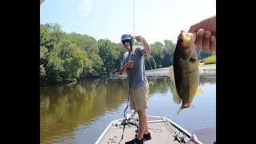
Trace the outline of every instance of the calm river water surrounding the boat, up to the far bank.
[[[150, 79], [150, 108], [147, 114], [166, 116], [191, 132], [216, 124], [216, 77], [200, 79], [202, 95], [193, 109], [182, 110], [173, 102], [169, 78]], [[40, 142], [94, 144], [106, 126], [123, 118], [127, 102], [126, 79], [91, 79], [62, 86], [41, 88]], [[130, 109], [129, 109], [130, 110]]]

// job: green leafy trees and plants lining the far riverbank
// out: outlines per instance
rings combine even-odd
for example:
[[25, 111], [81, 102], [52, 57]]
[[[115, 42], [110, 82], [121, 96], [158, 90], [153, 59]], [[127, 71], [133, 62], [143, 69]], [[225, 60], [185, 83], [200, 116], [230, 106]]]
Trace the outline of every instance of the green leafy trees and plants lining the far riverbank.
[[[135, 43], [138, 45], [138, 43]], [[160, 70], [172, 65], [175, 43], [171, 40], [150, 44], [145, 58], [146, 70]], [[214, 51], [198, 51], [204, 65], [216, 62]], [[40, 86], [77, 82], [86, 78], [111, 77], [119, 74], [122, 43], [87, 34], [66, 33], [57, 23], [40, 25]]]

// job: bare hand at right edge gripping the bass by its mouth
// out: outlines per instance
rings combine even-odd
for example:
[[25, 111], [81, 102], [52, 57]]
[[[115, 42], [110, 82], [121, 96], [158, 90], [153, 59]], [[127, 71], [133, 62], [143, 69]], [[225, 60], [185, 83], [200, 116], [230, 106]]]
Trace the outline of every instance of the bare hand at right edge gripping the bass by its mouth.
[[216, 15], [190, 26], [190, 33], [197, 31], [195, 46], [205, 51], [216, 50]]

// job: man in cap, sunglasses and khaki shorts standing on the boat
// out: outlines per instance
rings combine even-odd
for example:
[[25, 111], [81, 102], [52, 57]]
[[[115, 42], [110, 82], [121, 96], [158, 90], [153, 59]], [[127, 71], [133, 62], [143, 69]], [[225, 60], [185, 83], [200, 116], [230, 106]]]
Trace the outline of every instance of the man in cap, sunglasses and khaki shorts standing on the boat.
[[130, 88], [130, 109], [136, 110], [139, 117], [138, 136], [126, 144], [142, 144], [144, 140], [150, 140], [151, 135], [147, 126], [146, 109], [149, 106], [149, 82], [145, 75], [144, 56], [151, 53], [150, 46], [145, 38], [134, 36], [137, 42], [143, 42], [143, 46], [134, 46], [130, 49], [130, 34], [123, 34], [121, 42], [127, 52], [122, 58], [121, 74], [127, 72]]

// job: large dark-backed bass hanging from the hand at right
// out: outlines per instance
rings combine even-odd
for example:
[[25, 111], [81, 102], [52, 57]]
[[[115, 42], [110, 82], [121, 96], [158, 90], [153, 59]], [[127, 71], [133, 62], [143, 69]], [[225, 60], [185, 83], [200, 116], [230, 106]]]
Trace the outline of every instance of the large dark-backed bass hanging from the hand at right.
[[183, 109], [191, 108], [194, 96], [202, 94], [199, 88], [199, 73], [202, 73], [202, 64], [198, 61], [198, 53], [194, 45], [195, 34], [181, 30], [174, 50], [173, 66], [170, 66], [170, 80], [173, 89], [174, 102]]

